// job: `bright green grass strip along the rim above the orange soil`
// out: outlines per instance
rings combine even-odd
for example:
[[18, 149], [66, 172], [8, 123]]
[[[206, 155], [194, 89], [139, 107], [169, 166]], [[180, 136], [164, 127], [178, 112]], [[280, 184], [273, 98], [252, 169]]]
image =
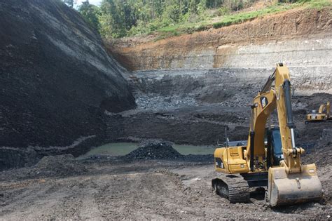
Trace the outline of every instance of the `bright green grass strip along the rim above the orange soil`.
[[159, 36], [155, 39], [155, 41], [158, 41], [160, 39], [166, 39], [170, 36], [177, 36], [179, 34], [192, 34], [193, 32], [200, 32], [210, 28], [217, 29], [220, 27], [235, 25], [241, 22], [254, 20], [255, 18], [260, 18], [265, 15], [272, 15], [275, 13], [288, 11], [293, 8], [308, 8], [320, 10], [321, 8], [331, 6], [331, 0], [303, 0], [293, 4], [274, 4], [272, 6], [268, 6], [267, 8], [262, 8], [257, 11], [242, 11], [238, 13], [232, 13], [230, 15], [223, 15], [220, 18], [219, 22], [212, 22], [212, 18], [209, 18], [208, 20], [197, 23], [184, 23], [163, 27], [157, 30]]

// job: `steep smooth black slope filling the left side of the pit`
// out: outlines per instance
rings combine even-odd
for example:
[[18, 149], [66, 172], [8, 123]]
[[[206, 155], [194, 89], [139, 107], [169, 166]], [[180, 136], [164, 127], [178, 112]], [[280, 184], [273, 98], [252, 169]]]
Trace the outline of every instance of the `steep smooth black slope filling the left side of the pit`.
[[101, 138], [104, 111], [135, 107], [102, 40], [60, 1], [0, 2], [0, 147]]

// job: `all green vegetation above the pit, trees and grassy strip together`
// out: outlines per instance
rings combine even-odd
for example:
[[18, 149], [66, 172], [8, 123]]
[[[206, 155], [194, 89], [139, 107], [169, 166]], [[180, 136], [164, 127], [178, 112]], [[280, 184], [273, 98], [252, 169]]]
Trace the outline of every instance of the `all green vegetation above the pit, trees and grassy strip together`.
[[[68, 1], [68, 0], [65, 0]], [[78, 11], [106, 39], [157, 33], [155, 40], [245, 22], [291, 8], [324, 8], [331, 0], [279, 0], [256, 11], [240, 11], [256, 0], [103, 0], [86, 1]]]

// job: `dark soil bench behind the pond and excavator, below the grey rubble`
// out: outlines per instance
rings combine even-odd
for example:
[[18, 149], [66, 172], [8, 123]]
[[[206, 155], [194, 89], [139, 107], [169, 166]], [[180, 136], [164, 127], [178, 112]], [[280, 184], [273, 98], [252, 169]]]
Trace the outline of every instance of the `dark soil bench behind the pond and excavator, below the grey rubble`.
[[[155, 109], [142, 108], [111, 114], [106, 117], [108, 120], [106, 138], [109, 139], [108, 142], [162, 139], [177, 144], [216, 145], [217, 142], [225, 142], [225, 128], [227, 128], [230, 140], [247, 140], [251, 102], [248, 94], [254, 94], [252, 91], [254, 91], [252, 88], [247, 91], [236, 91], [240, 101], [230, 95], [225, 98], [223, 104], [196, 102], [194, 106], [177, 104], [177, 108], [174, 108], [170, 102], [152, 102], [157, 106]], [[198, 95], [201, 94], [198, 92]], [[253, 97], [254, 95], [251, 98]], [[182, 99], [186, 100], [186, 97]], [[319, 105], [327, 100], [332, 100], [332, 95], [319, 93], [293, 97], [296, 143], [309, 152], [316, 145], [324, 128], [332, 126], [332, 121], [306, 125], [306, 114], [311, 109], [318, 109]], [[238, 107], [240, 105], [242, 106]], [[142, 106], [148, 105], [145, 103]], [[271, 121], [277, 123], [275, 112]]]

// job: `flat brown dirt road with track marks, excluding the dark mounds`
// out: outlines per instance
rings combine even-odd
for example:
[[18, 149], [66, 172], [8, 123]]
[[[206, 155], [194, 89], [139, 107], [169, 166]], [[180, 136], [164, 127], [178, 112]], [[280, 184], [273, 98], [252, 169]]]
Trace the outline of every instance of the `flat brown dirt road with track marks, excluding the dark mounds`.
[[[12, 181], [5, 181], [10, 173], [1, 173], [1, 219], [326, 220], [332, 215], [331, 201], [272, 209], [262, 196], [253, 195], [251, 203], [230, 204], [212, 190], [210, 180], [216, 175], [212, 163], [84, 164], [88, 173], [67, 178], [29, 179], [17, 169], [11, 170]], [[331, 169], [329, 165], [319, 168], [327, 192], [331, 192]]]

